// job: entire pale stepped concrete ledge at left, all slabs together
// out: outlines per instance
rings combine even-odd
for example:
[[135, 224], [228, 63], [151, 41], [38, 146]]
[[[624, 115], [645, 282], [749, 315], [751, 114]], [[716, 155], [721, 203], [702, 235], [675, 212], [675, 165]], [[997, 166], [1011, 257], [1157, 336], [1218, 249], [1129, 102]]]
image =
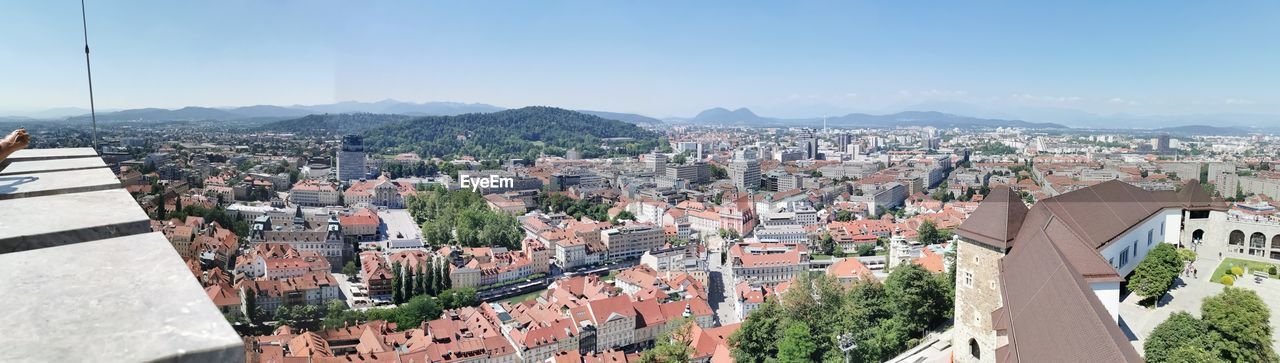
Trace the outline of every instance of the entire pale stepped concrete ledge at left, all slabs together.
[[241, 339], [91, 148], [0, 162], [5, 362], [243, 362]]

